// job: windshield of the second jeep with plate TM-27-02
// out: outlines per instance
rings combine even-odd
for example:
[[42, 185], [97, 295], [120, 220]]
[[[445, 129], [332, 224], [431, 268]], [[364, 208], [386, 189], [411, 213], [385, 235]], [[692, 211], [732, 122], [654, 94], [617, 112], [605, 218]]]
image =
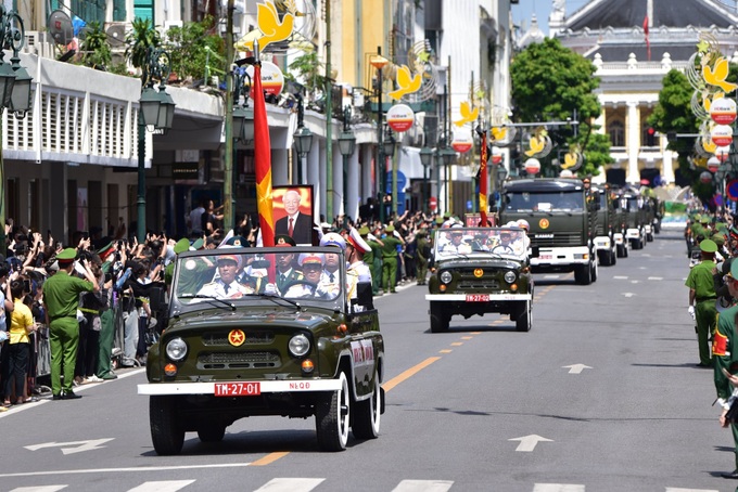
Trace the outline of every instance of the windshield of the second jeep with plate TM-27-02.
[[498, 256], [523, 259], [531, 245], [520, 228], [450, 228], [435, 233], [435, 259]]

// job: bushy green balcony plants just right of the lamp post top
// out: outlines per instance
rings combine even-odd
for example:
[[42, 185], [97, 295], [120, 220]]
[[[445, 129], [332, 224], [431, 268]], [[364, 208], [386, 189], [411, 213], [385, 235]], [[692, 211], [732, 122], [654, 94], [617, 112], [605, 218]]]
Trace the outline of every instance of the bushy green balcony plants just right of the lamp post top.
[[201, 22], [188, 22], [182, 27], [170, 27], [166, 31], [165, 46], [171, 55], [171, 72], [177, 73], [180, 79], [204, 79], [206, 67], [211, 75], [225, 74], [228, 68], [225, 63], [226, 43], [215, 34], [215, 18], [207, 16]]

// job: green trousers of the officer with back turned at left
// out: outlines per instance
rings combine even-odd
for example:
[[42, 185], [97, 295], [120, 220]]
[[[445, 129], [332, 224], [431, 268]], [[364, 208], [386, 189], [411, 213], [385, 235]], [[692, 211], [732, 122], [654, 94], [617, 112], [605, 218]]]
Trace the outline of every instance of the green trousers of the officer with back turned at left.
[[51, 346], [51, 392], [61, 394], [62, 375], [64, 376], [64, 391], [72, 391], [79, 347], [77, 319], [68, 316], [53, 320], [49, 327], [49, 345]]

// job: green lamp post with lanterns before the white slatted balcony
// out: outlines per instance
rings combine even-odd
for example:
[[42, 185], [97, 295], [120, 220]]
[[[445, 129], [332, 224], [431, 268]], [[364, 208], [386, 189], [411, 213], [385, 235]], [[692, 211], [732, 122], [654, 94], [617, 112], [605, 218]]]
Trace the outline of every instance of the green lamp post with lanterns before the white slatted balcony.
[[[147, 127], [154, 130], [167, 131], [171, 128], [175, 117], [175, 102], [166, 92], [166, 79], [169, 77], [169, 53], [161, 48], [147, 50], [147, 59], [141, 67], [141, 99], [139, 100], [138, 127], [138, 241], [143, 243], [147, 237], [147, 190], [145, 190], [145, 157], [147, 157]], [[158, 91], [154, 82], [158, 81]]]

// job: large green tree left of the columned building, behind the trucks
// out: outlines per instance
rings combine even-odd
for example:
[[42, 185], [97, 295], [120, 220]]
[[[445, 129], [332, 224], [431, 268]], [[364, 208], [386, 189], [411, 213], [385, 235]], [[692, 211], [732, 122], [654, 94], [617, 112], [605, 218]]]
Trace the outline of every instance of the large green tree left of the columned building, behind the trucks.
[[[601, 113], [595, 90], [599, 79], [595, 65], [584, 56], [564, 48], [558, 39], [547, 38], [518, 53], [510, 65], [513, 118], [520, 122], [563, 121], [576, 112], [578, 129], [549, 128], [549, 137], [559, 148], [578, 144], [585, 156], [583, 174], [596, 174], [600, 166], [613, 163], [610, 139], [597, 133], [594, 125]], [[540, 159], [545, 173], [558, 173], [551, 160], [556, 152]]]

